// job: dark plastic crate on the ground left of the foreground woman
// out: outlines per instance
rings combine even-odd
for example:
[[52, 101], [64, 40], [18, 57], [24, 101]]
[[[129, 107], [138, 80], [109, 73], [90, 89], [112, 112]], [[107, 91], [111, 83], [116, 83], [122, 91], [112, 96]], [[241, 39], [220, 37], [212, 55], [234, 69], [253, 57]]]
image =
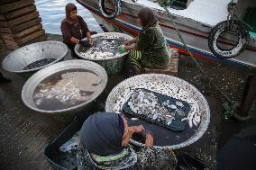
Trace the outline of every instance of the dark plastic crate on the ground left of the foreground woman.
[[77, 152], [72, 151], [69, 152], [61, 152], [59, 147], [61, 147], [64, 143], [69, 141], [78, 130], [81, 129], [84, 121], [90, 114], [88, 113], [79, 113], [74, 121], [72, 121], [69, 126], [63, 130], [57, 139], [51, 142], [43, 152], [44, 157], [50, 163], [54, 169], [58, 170], [73, 170], [77, 169], [78, 161], [77, 161]]

